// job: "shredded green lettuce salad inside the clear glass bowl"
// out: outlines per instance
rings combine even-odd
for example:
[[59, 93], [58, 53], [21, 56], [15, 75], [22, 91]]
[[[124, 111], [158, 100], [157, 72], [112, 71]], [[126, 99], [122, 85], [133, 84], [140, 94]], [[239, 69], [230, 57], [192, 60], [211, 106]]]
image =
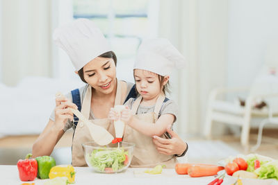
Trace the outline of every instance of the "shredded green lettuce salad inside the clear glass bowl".
[[129, 163], [129, 155], [122, 148], [115, 150], [99, 149], [88, 156], [90, 164], [101, 172], [113, 173]]

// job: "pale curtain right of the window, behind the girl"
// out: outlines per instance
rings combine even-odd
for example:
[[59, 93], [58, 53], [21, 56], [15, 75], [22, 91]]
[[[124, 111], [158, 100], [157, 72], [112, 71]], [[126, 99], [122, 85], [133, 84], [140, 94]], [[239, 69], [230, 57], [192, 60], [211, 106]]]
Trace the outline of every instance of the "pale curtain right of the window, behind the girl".
[[202, 133], [208, 93], [224, 85], [228, 0], [160, 1], [159, 37], [185, 55], [187, 67], [172, 77], [181, 136]]

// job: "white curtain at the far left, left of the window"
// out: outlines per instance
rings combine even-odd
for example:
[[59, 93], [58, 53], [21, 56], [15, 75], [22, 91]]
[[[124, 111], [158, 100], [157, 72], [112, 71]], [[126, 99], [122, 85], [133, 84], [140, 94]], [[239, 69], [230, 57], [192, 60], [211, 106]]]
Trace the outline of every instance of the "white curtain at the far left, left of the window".
[[16, 85], [26, 76], [52, 76], [51, 1], [2, 0], [1, 80]]

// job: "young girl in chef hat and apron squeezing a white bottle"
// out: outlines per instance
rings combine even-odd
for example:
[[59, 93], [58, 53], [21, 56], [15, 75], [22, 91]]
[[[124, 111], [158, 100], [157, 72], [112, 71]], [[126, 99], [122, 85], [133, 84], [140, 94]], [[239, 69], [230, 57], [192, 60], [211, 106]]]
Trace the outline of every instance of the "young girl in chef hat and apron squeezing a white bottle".
[[167, 39], [149, 39], [142, 42], [134, 65], [138, 98], [130, 98], [121, 114], [111, 108], [108, 117], [126, 123], [123, 141], [136, 144], [131, 167], [154, 167], [165, 164], [174, 167], [174, 155], [164, 155], [156, 150], [153, 136], [170, 138], [166, 130], [177, 118], [177, 105], [165, 98], [165, 91], [174, 67], [185, 60]]

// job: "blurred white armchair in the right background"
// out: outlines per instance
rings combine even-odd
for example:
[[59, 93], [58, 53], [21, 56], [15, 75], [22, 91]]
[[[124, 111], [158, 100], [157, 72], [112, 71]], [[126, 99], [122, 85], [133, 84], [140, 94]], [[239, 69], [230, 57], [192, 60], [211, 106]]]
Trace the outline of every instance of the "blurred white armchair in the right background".
[[[247, 99], [245, 100], [245, 107], [242, 107], [239, 104], [237, 105], [235, 103], [228, 102], [227, 100], [218, 99], [218, 96], [220, 96], [221, 94], [229, 94], [240, 91], [249, 91], [249, 96], [247, 96]], [[209, 95], [208, 100], [208, 109], [204, 125], [205, 136], [207, 138], [211, 138], [211, 127], [213, 121], [218, 121], [220, 123], [228, 123], [231, 125], [239, 125], [242, 127], [240, 136], [241, 145], [248, 148], [250, 123], [252, 121], [252, 118], [267, 118], [270, 114], [268, 107], [264, 107], [263, 109], [254, 109], [254, 103], [257, 100], [264, 100], [267, 104], [269, 104], [270, 102], [275, 102], [275, 107], [272, 107], [272, 114], [278, 114], [277, 74], [268, 73], [259, 76], [258, 78], [256, 78], [256, 80], [252, 84], [252, 87], [250, 88], [244, 87], [232, 89], [213, 89], [213, 91], [211, 91], [211, 94]]]

